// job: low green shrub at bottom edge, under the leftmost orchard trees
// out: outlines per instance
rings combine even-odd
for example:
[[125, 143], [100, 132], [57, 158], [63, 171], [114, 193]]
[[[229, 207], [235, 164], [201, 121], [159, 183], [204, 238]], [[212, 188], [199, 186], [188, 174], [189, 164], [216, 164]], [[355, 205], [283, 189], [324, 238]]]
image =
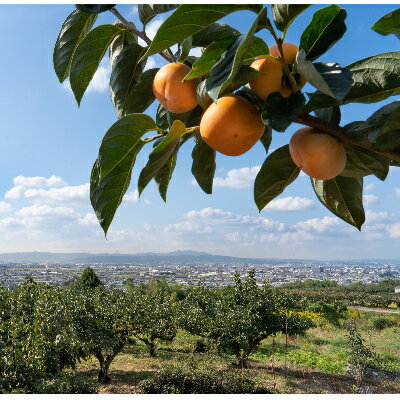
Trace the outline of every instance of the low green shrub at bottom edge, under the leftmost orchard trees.
[[98, 386], [80, 375], [61, 374], [39, 382], [33, 391], [37, 394], [95, 394]]

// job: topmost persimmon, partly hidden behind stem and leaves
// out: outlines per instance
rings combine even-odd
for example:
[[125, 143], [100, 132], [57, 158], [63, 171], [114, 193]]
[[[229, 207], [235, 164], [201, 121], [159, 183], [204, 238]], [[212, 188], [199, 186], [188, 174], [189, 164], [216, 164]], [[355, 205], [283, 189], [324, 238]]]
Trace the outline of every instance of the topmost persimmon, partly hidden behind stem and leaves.
[[[288, 64], [293, 64], [296, 59], [298, 46], [292, 43], [282, 44], [283, 55]], [[279, 57], [278, 46], [271, 46], [269, 49], [271, 56]], [[279, 92], [282, 97], [289, 97], [291, 94], [290, 86], [284, 85], [284, 71], [280, 60], [273, 59], [271, 57], [262, 57], [255, 60], [250, 67], [257, 71], [264, 72], [261, 75], [250, 82], [251, 90], [261, 100], [265, 100], [271, 93]], [[301, 89], [306, 83], [306, 80], [300, 77], [297, 82], [297, 87]]]

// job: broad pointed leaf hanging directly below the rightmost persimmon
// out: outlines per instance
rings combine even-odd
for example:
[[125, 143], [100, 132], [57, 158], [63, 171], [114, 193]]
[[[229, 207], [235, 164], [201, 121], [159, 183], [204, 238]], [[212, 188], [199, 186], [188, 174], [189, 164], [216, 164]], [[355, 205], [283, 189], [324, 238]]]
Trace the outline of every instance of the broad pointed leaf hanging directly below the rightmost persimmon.
[[362, 178], [337, 176], [326, 181], [311, 178], [315, 194], [333, 214], [361, 230], [365, 221]]

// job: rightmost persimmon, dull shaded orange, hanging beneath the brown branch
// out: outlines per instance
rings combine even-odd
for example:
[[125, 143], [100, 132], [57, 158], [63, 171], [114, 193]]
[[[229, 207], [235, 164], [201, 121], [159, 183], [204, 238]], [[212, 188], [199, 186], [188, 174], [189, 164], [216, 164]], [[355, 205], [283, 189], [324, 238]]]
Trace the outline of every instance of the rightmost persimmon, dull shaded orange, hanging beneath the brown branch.
[[299, 129], [290, 139], [290, 156], [307, 175], [332, 179], [346, 166], [346, 151], [336, 138], [314, 128]]

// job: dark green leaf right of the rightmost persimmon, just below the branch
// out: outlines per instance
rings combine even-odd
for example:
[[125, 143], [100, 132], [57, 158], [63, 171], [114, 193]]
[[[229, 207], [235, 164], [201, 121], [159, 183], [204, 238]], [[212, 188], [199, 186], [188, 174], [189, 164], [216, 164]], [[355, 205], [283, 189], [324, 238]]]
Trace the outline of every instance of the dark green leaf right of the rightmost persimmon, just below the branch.
[[345, 144], [347, 164], [341, 176], [375, 175], [384, 181], [389, 173], [389, 159], [371, 150]]

